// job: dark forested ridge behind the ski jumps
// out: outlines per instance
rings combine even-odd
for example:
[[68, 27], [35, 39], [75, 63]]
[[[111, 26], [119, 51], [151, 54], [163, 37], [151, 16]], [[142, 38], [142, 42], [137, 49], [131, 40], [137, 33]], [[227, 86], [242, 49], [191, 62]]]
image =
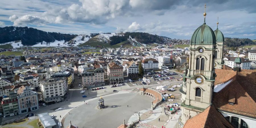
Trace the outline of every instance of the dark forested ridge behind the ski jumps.
[[144, 32], [125, 32], [123, 36], [112, 36], [110, 37], [110, 45], [115, 45], [120, 42], [127, 40], [131, 36], [137, 42], [143, 44], [150, 44], [150, 43], [164, 43], [164, 38], [158, 35], [152, 35], [149, 33]]

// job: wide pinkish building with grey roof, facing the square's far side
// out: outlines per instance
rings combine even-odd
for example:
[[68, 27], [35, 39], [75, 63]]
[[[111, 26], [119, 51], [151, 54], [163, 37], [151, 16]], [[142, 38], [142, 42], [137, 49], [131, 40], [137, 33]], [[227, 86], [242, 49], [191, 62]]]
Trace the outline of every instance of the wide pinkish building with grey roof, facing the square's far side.
[[83, 86], [94, 85], [101, 86], [104, 85], [104, 69], [97, 68], [95, 70], [87, 70], [82, 74], [82, 84]]

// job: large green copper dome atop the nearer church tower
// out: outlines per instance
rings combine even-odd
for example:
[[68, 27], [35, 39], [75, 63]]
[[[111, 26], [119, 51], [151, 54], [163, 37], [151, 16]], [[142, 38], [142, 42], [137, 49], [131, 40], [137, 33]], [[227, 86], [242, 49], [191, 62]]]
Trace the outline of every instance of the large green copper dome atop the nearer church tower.
[[205, 23], [198, 27], [192, 35], [191, 45], [212, 45], [216, 44], [216, 38], [213, 30]]

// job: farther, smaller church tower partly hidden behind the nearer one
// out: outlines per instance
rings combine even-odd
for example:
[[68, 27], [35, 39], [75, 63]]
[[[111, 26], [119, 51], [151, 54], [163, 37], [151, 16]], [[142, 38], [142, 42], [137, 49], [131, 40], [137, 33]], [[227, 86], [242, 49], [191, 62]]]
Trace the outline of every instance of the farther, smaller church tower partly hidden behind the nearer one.
[[218, 24], [219, 22], [217, 21], [217, 29], [214, 31], [216, 37], [216, 51], [214, 51], [214, 68], [221, 69], [223, 65], [224, 36], [222, 32], [218, 29]]

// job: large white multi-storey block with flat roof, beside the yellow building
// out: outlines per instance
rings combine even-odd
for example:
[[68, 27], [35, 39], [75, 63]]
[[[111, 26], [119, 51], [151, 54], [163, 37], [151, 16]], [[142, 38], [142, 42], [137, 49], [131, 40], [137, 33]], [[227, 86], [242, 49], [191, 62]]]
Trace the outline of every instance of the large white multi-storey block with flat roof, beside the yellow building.
[[59, 102], [61, 97], [67, 93], [67, 82], [65, 78], [48, 79], [40, 81], [42, 99], [44, 102]]

